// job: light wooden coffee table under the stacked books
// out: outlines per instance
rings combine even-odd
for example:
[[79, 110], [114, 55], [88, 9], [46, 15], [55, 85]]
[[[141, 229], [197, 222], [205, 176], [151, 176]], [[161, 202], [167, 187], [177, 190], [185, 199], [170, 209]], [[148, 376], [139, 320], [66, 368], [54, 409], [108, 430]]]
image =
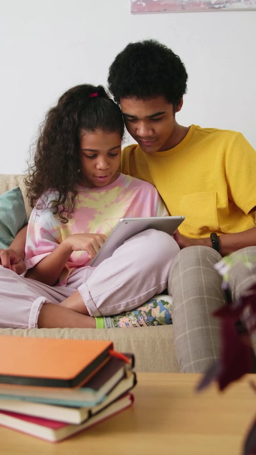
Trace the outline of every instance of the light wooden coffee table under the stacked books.
[[52, 444], [0, 427], [2, 455], [241, 455], [256, 416], [248, 375], [223, 393], [194, 392], [200, 375], [138, 373], [130, 409]]

